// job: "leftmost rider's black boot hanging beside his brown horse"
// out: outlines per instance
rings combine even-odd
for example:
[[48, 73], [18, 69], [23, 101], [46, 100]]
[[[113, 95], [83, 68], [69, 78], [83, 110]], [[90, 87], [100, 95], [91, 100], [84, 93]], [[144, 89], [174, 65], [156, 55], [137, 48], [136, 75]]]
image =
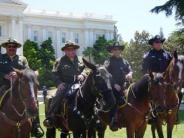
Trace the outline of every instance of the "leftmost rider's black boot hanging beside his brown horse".
[[[37, 104], [39, 106], [39, 103]], [[38, 108], [37, 116], [32, 120], [31, 135], [36, 138], [41, 138], [44, 136], [44, 131], [40, 126], [39, 108]]]

